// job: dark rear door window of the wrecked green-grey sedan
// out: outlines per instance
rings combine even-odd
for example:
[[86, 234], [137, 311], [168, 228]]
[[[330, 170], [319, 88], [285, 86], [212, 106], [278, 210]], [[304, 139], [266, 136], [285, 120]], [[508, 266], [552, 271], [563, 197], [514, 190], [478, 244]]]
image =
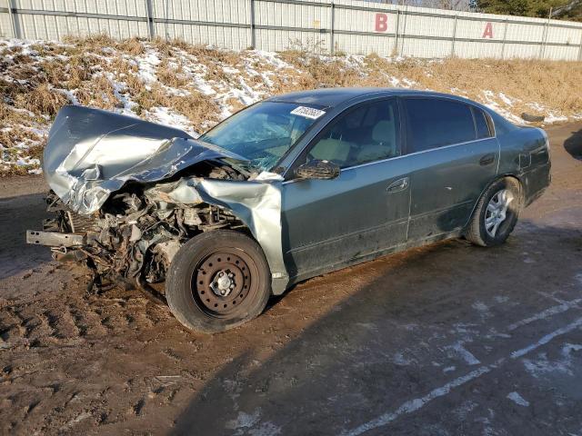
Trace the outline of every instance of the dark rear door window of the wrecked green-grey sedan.
[[439, 98], [407, 98], [405, 105], [412, 153], [477, 138], [467, 104]]

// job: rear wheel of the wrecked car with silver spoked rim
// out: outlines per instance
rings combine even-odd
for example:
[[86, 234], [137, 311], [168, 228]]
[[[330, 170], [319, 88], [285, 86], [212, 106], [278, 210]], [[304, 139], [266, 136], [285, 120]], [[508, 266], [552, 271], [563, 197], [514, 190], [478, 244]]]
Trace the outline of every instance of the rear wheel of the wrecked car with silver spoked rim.
[[492, 183], [477, 203], [465, 238], [482, 247], [505, 243], [516, 226], [521, 204], [521, 189], [516, 179], [506, 177]]

